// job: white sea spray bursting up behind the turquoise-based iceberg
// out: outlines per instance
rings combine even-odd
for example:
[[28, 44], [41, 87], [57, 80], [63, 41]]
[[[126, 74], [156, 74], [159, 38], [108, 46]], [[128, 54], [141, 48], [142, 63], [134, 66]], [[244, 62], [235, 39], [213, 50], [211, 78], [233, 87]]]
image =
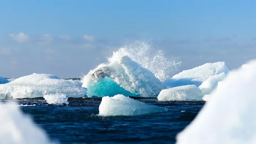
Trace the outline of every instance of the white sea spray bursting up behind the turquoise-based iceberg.
[[151, 38], [125, 42], [120, 49], [113, 52], [108, 61], [116, 61], [121, 56], [129, 56], [131, 60], [154, 73], [161, 82], [170, 78], [181, 65], [175, 57], [166, 57], [162, 50], [155, 49]]

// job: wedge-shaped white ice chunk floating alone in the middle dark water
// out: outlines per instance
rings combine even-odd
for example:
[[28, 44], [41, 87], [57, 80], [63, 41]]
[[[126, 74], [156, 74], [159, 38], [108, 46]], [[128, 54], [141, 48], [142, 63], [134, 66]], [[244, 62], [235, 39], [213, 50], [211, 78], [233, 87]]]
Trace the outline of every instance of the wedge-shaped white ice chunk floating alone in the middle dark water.
[[124, 95], [105, 96], [99, 105], [99, 115], [139, 115], [166, 111], [161, 107], [149, 105]]

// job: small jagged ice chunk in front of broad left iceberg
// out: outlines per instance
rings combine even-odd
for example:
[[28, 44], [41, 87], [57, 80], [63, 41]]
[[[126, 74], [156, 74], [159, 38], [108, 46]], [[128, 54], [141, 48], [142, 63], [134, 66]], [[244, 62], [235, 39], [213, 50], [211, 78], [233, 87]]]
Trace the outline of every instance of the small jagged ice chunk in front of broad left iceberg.
[[49, 104], [62, 105], [63, 103], [68, 105], [68, 96], [66, 94], [49, 94], [44, 95], [44, 99]]

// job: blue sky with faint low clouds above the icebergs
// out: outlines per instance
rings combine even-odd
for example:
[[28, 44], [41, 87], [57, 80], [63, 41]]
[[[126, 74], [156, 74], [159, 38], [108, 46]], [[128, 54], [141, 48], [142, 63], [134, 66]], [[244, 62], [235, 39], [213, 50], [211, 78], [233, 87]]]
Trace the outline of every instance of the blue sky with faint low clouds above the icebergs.
[[[0, 75], [86, 74], [125, 38], [152, 35], [181, 70], [256, 57], [253, 0], [0, 1]], [[161, 41], [159, 41], [161, 39]]]

